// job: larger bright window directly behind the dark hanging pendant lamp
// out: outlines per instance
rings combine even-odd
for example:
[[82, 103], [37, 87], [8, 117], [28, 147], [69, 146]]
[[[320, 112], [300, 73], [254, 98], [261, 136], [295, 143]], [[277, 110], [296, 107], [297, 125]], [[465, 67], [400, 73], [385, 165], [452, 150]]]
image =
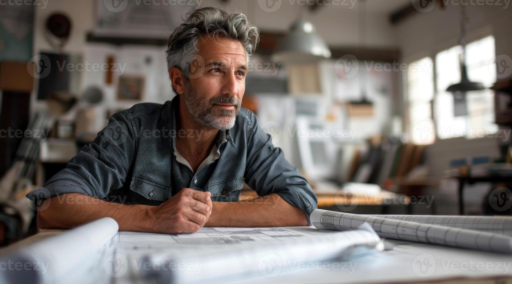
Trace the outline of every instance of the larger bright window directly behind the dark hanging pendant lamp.
[[[454, 115], [452, 93], [446, 92], [452, 84], [460, 82], [459, 56], [461, 46], [439, 52], [436, 55], [436, 96], [434, 112], [437, 135], [440, 139], [466, 137], [479, 138], [484, 133], [497, 131], [494, 121], [492, 90], [466, 94], [468, 114]], [[467, 74], [470, 80], [481, 82], [486, 88], [496, 82], [494, 37], [487, 36], [466, 45]]]

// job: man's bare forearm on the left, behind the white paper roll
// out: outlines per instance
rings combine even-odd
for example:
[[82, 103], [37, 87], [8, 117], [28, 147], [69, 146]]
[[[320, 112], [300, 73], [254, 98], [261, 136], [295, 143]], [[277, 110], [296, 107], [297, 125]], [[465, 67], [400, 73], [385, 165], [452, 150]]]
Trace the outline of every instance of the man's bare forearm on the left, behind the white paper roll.
[[146, 205], [124, 205], [91, 196], [68, 193], [45, 199], [37, 212], [41, 229], [71, 229], [103, 217], [111, 217], [120, 231], [154, 232]]

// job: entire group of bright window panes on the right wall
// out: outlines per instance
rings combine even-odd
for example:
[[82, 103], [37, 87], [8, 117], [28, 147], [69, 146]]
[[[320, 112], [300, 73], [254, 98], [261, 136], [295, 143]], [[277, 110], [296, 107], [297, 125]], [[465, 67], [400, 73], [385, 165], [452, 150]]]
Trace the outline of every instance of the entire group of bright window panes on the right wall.
[[[437, 53], [435, 77], [432, 68], [429, 68], [433, 66], [430, 57], [422, 58], [409, 65], [407, 102], [409, 134], [413, 143], [431, 144], [435, 140], [436, 132], [440, 139], [479, 138], [496, 133], [498, 130], [498, 126], [494, 124], [492, 90], [468, 92], [466, 94], [467, 115], [454, 115], [454, 97], [452, 93], [446, 92], [446, 88], [460, 82], [461, 52], [462, 47], [455, 46]], [[487, 36], [466, 45], [466, 66], [470, 80], [481, 82], [486, 88], [493, 86], [497, 77], [495, 53], [493, 36]]]

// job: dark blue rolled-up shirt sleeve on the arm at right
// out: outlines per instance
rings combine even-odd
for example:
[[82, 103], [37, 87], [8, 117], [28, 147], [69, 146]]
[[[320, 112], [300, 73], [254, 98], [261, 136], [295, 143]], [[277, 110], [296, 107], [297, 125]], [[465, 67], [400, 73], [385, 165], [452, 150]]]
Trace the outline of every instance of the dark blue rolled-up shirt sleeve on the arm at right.
[[250, 113], [247, 139], [245, 181], [265, 196], [276, 193], [289, 204], [302, 209], [308, 218], [317, 208], [317, 199], [309, 182], [286, 160], [283, 150], [274, 147], [272, 137], [258, 125]]

